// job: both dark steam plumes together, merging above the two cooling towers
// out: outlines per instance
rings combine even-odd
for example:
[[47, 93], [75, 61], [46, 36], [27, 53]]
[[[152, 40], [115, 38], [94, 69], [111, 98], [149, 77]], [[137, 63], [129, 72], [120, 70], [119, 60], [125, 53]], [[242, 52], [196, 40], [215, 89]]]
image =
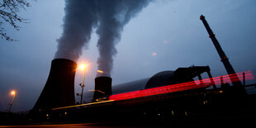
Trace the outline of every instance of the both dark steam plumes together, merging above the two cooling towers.
[[98, 69], [97, 76], [110, 76], [115, 45], [121, 40], [121, 32], [127, 22], [148, 5], [151, 0], [66, 0], [64, 32], [55, 58], [76, 61], [82, 54], [93, 27], [97, 27]]

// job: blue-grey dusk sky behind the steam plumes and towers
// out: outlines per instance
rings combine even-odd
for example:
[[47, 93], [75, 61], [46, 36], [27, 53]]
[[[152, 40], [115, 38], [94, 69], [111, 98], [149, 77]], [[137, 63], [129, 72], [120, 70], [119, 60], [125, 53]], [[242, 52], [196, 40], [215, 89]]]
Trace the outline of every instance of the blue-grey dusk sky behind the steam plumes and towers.
[[[0, 111], [5, 111], [17, 90], [12, 111], [30, 110], [40, 96], [55, 59], [57, 39], [64, 24], [64, 0], [37, 0], [21, 11], [28, 19], [20, 31], [3, 25], [12, 38], [0, 39]], [[154, 0], [124, 27], [116, 45], [111, 78], [113, 85], [149, 78], [179, 67], [210, 66], [213, 77], [225, 68], [199, 17], [216, 34], [237, 73], [256, 71], [255, 0]], [[85, 90], [94, 88], [97, 74], [97, 39], [94, 30], [78, 64], [87, 63]], [[75, 92], [81, 92], [83, 71], [75, 76]], [[79, 97], [76, 97], [79, 100]]]

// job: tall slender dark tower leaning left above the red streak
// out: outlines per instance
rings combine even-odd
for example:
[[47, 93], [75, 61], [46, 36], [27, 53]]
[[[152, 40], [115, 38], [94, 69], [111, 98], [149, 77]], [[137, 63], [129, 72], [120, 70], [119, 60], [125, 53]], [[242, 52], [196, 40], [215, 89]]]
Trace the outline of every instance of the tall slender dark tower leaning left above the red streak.
[[[206, 27], [206, 31], [208, 32], [209, 37], [211, 38], [211, 40], [213, 42], [213, 45], [216, 47], [216, 50], [217, 50], [218, 54], [220, 55], [220, 61], [224, 64], [226, 72], [228, 74], [234, 74], [235, 70], [233, 69], [232, 65], [230, 64], [229, 59], [226, 57], [224, 51], [222, 50], [219, 41], [216, 39], [216, 36], [211, 31], [211, 28], [208, 25], [205, 17], [201, 15], [200, 20]], [[239, 79], [236, 74], [232, 75], [232, 77], [234, 77], [234, 79]], [[232, 81], [232, 83], [234, 86], [242, 86], [242, 83], [240, 81], [236, 81], [236, 82]]]

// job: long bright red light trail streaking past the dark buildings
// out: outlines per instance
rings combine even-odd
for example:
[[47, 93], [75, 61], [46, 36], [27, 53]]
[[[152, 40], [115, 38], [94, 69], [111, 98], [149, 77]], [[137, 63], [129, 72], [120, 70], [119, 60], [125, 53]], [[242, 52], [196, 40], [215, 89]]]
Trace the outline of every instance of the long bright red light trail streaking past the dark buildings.
[[[235, 75], [237, 75], [237, 77]], [[245, 78], [245, 80], [254, 79], [253, 73], [251, 73], [251, 71], [246, 71], [242, 73], [234, 73], [234, 74], [220, 76], [216, 78], [206, 78], [206, 79], [187, 82], [187, 83], [172, 84], [172, 85], [167, 85], [159, 88], [149, 88], [149, 89], [140, 90], [140, 91], [125, 92], [121, 94], [111, 95], [109, 97], [109, 100], [119, 101], [119, 100], [126, 100], [126, 99], [136, 98], [136, 97], [147, 97], [147, 96], [159, 95], [159, 94], [164, 94], [169, 92], [185, 91], [185, 90], [194, 89], [194, 88], [206, 88], [212, 85], [211, 80], [213, 80], [216, 85], [220, 85], [221, 83], [231, 83], [231, 81], [238, 82], [239, 80], [242, 80], [243, 77]]]

